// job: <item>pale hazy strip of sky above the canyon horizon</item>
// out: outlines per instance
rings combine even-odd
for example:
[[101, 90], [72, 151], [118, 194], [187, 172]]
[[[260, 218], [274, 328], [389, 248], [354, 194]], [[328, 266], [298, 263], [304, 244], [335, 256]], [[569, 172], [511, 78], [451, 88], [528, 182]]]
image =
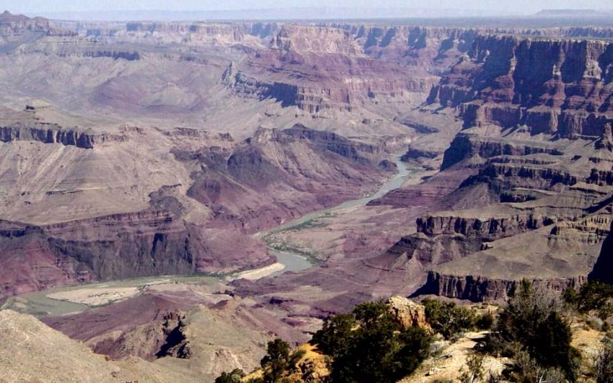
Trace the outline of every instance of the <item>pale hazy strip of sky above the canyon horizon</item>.
[[534, 13], [543, 8], [612, 9], [612, 0], [0, 0], [13, 13], [98, 10], [240, 10], [286, 7], [440, 8]]

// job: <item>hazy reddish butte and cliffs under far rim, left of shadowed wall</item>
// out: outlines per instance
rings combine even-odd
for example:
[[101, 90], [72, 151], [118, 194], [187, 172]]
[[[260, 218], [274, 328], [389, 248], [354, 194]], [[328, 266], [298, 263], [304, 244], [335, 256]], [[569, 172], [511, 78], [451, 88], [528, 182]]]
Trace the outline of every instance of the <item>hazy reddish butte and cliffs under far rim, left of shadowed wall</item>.
[[[309, 113], [352, 111], [376, 97], [423, 100], [475, 36], [463, 29], [284, 25], [271, 50], [226, 79], [237, 92]], [[274, 75], [262, 72], [270, 63]]]

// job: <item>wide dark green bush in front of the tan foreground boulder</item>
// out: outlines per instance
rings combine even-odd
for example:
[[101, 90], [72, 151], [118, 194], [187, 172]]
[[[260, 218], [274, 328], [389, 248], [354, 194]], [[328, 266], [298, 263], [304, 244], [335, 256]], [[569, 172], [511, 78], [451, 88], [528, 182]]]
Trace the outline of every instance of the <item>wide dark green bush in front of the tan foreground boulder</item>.
[[397, 382], [429, 356], [432, 338], [402, 329], [383, 302], [367, 302], [335, 315], [313, 336], [331, 357], [332, 382]]

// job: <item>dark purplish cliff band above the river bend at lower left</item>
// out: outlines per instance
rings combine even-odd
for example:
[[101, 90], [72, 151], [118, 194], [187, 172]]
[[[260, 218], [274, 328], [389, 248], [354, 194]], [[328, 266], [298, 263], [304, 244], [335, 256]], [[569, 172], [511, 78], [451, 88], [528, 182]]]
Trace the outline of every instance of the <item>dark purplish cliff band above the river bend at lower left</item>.
[[[168, 210], [46, 226], [2, 221], [0, 264], [6, 272], [0, 273], [0, 297], [91, 281], [230, 272], [273, 262], [263, 244], [186, 224], [177, 215], [182, 210], [176, 201], [158, 198], [155, 203]], [[228, 256], [234, 246], [242, 251]]]

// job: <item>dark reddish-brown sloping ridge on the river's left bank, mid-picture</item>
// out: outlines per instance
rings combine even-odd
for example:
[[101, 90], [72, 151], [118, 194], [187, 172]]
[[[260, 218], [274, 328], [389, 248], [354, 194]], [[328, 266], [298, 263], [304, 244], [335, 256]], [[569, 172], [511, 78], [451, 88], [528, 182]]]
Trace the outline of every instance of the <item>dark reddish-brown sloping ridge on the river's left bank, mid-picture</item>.
[[[376, 166], [380, 152], [380, 147], [294, 125], [258, 130], [231, 153], [210, 148], [175, 155], [198, 168], [188, 195], [212, 210], [209, 226], [255, 233], [360, 195], [363, 185], [389, 173]], [[259, 194], [278, 203], [264, 203]]]

